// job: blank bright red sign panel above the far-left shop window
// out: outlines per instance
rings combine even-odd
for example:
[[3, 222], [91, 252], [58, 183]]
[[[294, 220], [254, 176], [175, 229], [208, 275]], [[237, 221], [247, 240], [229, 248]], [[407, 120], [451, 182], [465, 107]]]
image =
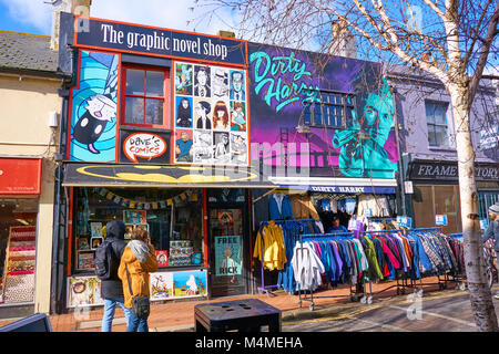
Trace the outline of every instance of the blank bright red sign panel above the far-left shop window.
[[40, 195], [40, 158], [0, 158], [0, 195]]

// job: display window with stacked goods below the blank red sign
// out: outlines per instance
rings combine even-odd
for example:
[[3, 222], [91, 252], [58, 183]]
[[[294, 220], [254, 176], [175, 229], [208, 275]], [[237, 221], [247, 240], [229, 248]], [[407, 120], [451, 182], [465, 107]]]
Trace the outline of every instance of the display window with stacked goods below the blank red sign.
[[0, 199], [0, 304], [32, 303], [38, 198]]

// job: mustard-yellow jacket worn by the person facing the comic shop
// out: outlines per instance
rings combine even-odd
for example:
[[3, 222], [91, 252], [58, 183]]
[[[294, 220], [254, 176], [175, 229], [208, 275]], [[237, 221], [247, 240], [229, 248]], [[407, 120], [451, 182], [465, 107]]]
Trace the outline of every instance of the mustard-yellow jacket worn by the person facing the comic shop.
[[129, 269], [130, 279], [132, 281], [133, 296], [149, 296], [149, 273], [157, 270], [157, 260], [154, 246], [147, 244], [150, 254], [145, 261], [141, 263], [132, 249], [126, 246], [123, 256], [121, 257], [120, 268], [118, 269], [118, 277], [123, 283], [124, 306], [132, 308], [132, 296], [129, 289], [129, 280], [126, 278], [125, 263]]

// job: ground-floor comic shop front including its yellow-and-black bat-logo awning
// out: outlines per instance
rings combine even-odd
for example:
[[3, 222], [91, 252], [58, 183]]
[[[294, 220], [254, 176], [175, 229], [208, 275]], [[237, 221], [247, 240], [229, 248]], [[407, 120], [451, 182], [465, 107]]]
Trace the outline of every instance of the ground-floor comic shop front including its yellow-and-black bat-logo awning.
[[150, 274], [153, 302], [251, 293], [251, 191], [273, 185], [251, 168], [223, 170], [68, 163], [68, 308], [103, 304], [93, 259], [110, 220], [125, 223], [125, 241], [134, 228], [150, 232], [159, 264]]

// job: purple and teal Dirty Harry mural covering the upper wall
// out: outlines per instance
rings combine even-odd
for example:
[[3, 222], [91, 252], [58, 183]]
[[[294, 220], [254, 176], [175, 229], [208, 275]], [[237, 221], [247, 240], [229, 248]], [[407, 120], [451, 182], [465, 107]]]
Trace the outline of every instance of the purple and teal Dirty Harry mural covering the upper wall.
[[248, 63], [252, 166], [395, 178], [394, 97], [378, 63], [257, 43]]

